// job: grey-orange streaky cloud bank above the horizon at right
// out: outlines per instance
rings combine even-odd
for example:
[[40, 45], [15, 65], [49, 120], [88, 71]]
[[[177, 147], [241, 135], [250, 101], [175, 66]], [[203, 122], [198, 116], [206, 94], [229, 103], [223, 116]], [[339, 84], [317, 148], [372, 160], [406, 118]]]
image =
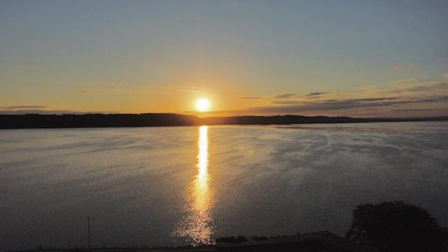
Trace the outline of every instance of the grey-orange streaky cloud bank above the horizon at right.
[[[421, 116], [425, 111], [447, 113], [448, 81], [417, 80], [409, 78], [381, 85], [357, 87], [352, 92], [309, 92], [304, 94], [277, 94], [270, 97], [271, 106], [253, 106], [239, 113], [244, 114], [321, 114], [387, 116], [384, 113], [412, 111]], [[401, 115], [401, 114], [400, 114]], [[431, 116], [434, 116], [431, 114]]]

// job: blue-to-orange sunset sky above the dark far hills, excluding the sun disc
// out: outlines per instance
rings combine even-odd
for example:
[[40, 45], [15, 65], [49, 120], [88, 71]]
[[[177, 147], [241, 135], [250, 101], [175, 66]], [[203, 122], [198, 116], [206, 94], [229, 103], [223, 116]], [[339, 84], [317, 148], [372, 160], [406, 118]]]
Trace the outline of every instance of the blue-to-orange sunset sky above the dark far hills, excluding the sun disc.
[[0, 0], [0, 113], [448, 116], [448, 1]]

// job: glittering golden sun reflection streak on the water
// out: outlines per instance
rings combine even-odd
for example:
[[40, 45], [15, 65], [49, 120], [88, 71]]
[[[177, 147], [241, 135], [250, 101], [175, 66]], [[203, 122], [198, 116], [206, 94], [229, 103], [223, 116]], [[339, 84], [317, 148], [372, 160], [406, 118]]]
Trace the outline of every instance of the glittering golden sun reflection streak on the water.
[[193, 246], [213, 244], [214, 219], [212, 214], [214, 195], [209, 188], [209, 139], [208, 127], [199, 128], [197, 146], [197, 176], [188, 187], [186, 210], [188, 216], [183, 218], [176, 228], [174, 235], [183, 237]]

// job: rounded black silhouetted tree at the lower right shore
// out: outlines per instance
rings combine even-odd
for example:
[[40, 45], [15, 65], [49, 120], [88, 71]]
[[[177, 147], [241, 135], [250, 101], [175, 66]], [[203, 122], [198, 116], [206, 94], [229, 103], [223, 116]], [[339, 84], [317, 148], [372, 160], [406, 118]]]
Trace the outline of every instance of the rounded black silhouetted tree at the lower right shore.
[[346, 238], [379, 251], [448, 251], [448, 231], [428, 211], [402, 201], [359, 204]]

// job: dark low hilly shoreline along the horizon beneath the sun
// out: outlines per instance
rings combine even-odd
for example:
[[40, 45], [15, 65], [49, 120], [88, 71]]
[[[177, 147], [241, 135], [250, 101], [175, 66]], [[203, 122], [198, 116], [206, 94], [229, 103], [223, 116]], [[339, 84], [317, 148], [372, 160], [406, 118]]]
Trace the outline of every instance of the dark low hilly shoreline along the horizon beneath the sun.
[[230, 116], [198, 118], [174, 113], [86, 114], [86, 115], [0, 115], [0, 129], [76, 128], [76, 127], [162, 127], [193, 125], [288, 125], [307, 123], [372, 123], [440, 118], [349, 118], [327, 116]]

